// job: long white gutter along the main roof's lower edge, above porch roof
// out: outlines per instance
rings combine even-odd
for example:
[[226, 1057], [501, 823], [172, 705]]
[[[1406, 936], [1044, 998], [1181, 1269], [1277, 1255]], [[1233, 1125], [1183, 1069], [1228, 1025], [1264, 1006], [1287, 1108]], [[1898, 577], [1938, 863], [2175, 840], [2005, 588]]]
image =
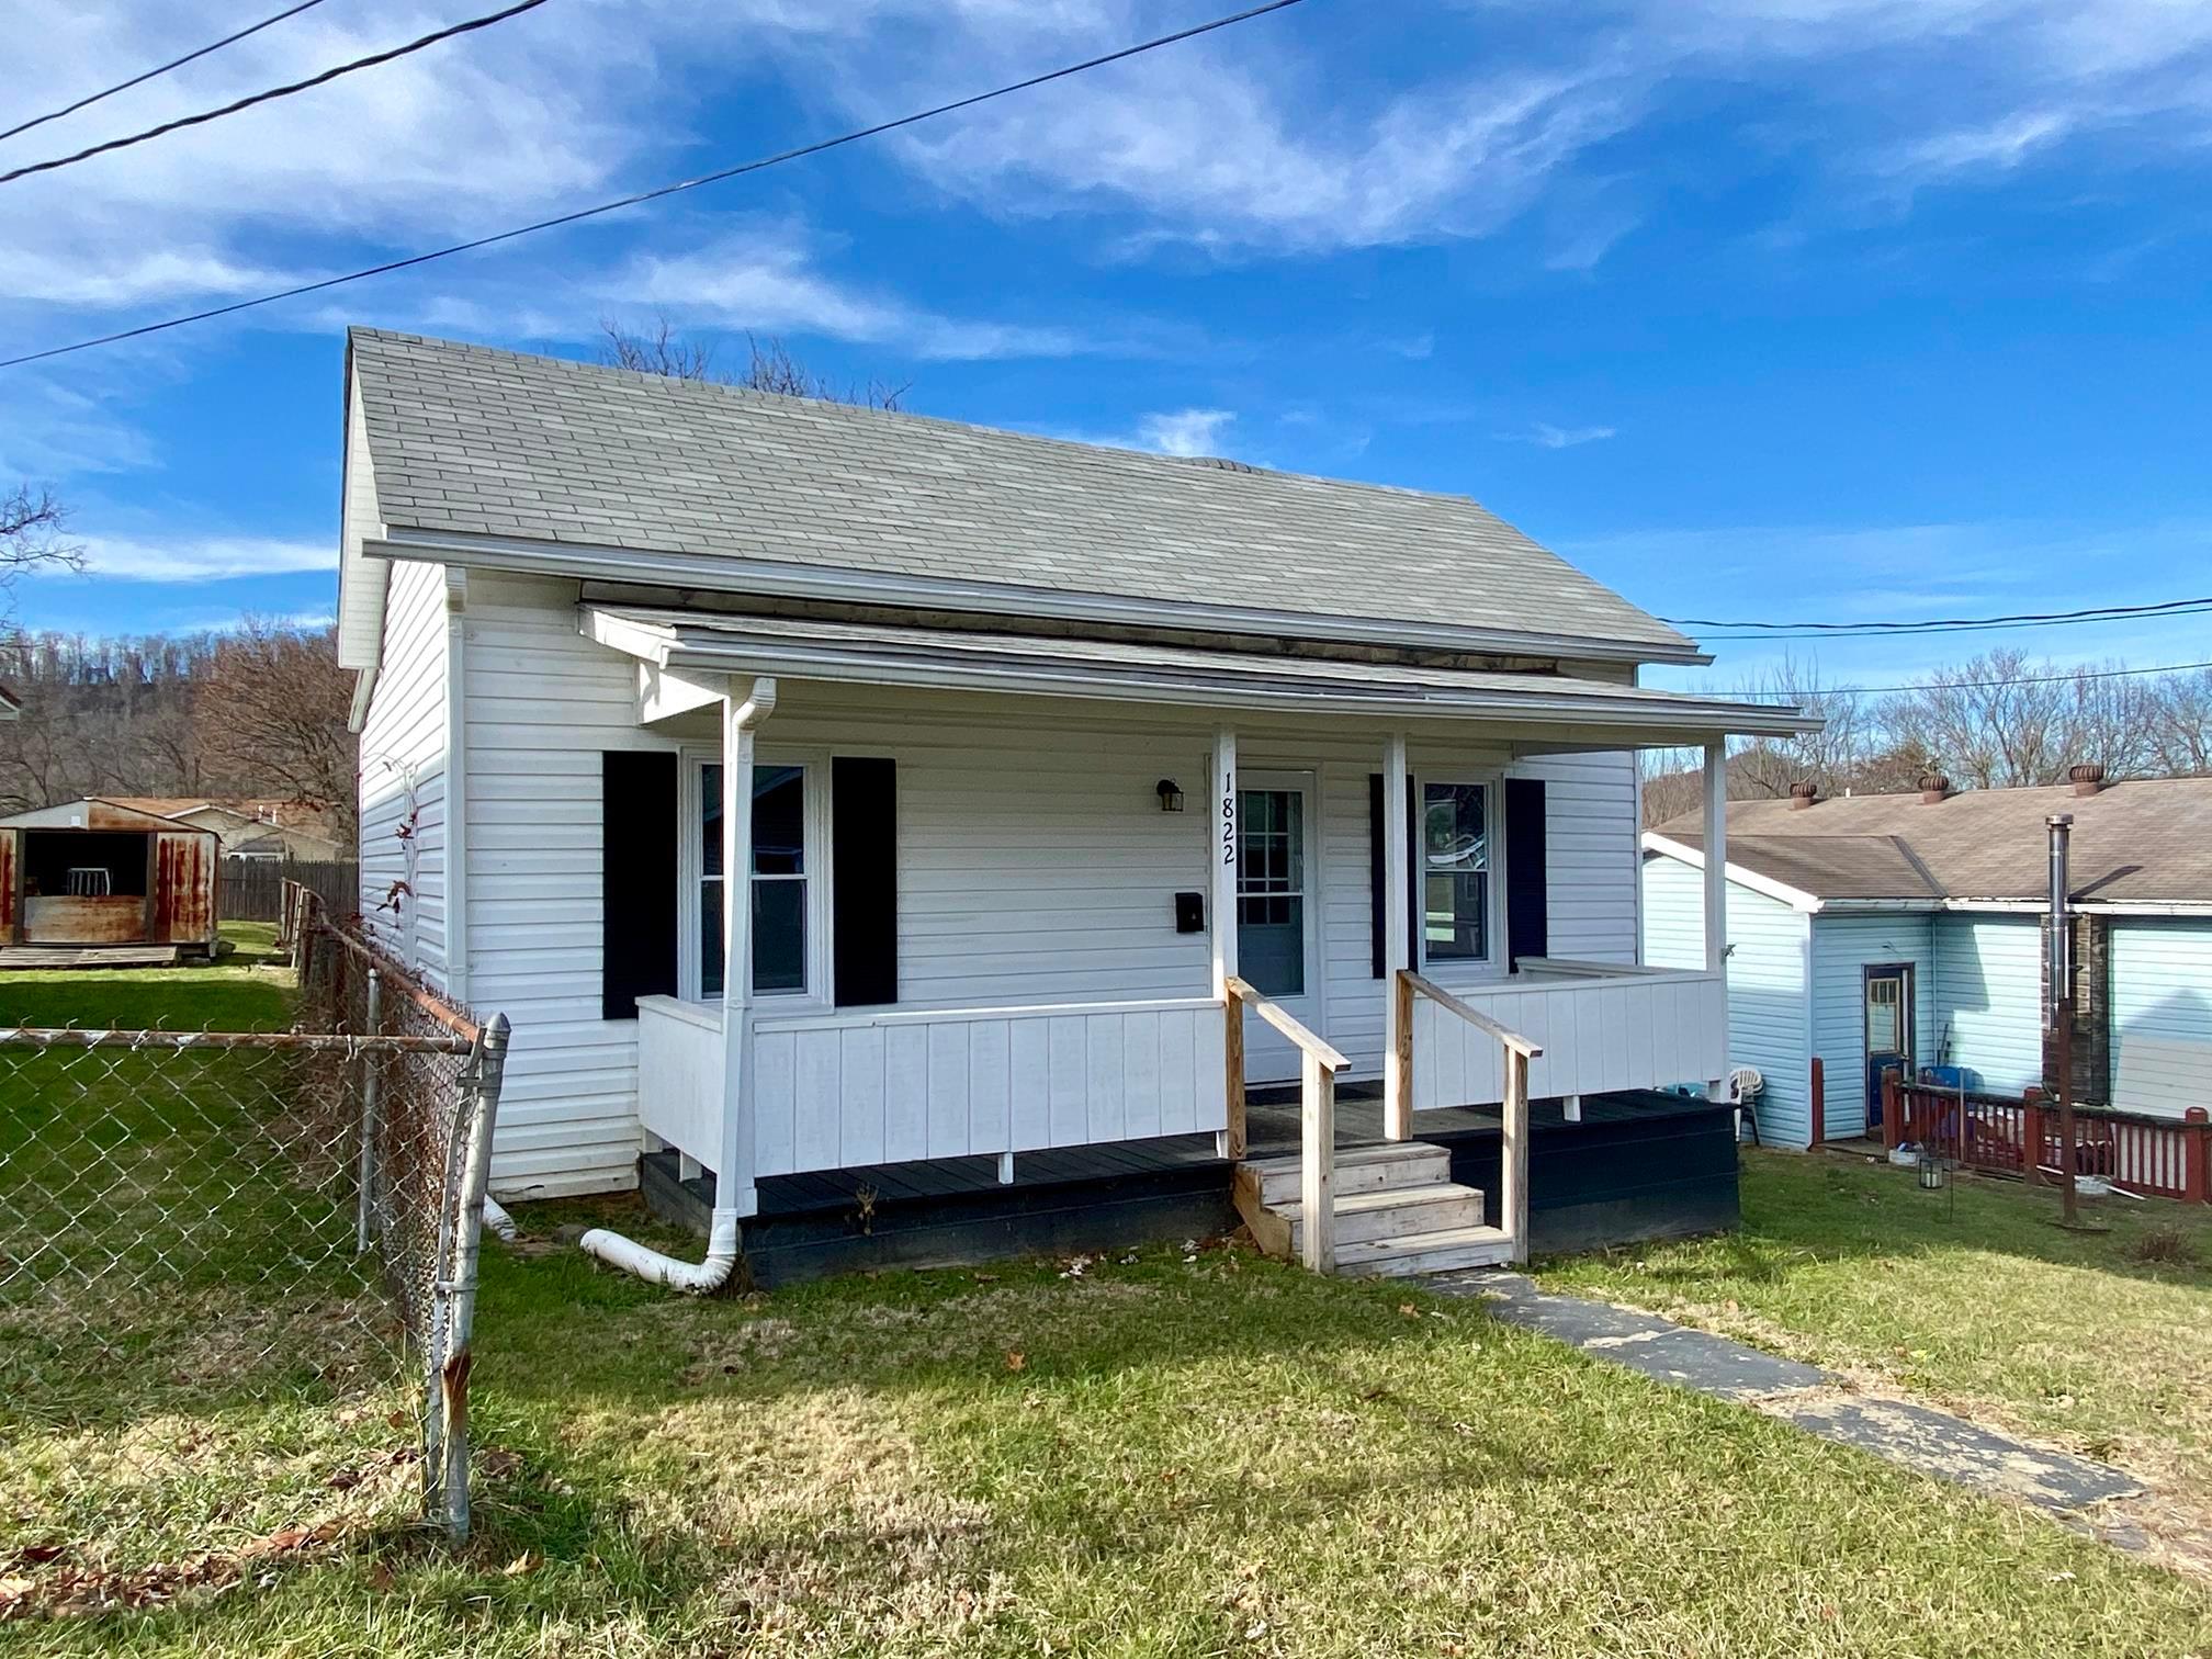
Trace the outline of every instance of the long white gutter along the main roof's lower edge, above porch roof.
[[[1172, 613], [1177, 628], [1256, 633], [1296, 639], [1349, 639], [1367, 646], [1418, 646], [1431, 650], [1495, 650], [1511, 655], [1559, 655], [1593, 661], [1681, 664], [1699, 668], [1712, 655], [1697, 641], [1601, 639], [1590, 635], [1455, 628], [1433, 622], [1387, 617], [1343, 617], [1318, 611], [1272, 611], [1263, 606], [1186, 604], [1130, 599], [1113, 593], [1055, 593], [1018, 582], [845, 571], [796, 560], [743, 560], [723, 553], [672, 553], [591, 542], [538, 542], [522, 535], [473, 531], [418, 531], [387, 524], [383, 538], [361, 544], [374, 560], [442, 560], [487, 571], [522, 575], [566, 575], [580, 582], [615, 582], [653, 588], [697, 588], [701, 593], [765, 593], [785, 599], [843, 599], [847, 604], [891, 604], [918, 611], [987, 611], [1004, 617], [1055, 617], [1064, 622], [1128, 622], [1159, 626]], [[1663, 626], [1663, 624], [1661, 624]], [[1672, 628], [1668, 630], [1672, 633]]]

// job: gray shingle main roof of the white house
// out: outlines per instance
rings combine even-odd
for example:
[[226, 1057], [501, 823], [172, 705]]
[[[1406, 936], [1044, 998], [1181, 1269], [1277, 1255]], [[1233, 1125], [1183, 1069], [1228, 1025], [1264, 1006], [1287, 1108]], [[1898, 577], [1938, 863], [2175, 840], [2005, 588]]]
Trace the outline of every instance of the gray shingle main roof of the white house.
[[1141, 456], [352, 330], [378, 515], [507, 535], [1692, 650], [1464, 495]]

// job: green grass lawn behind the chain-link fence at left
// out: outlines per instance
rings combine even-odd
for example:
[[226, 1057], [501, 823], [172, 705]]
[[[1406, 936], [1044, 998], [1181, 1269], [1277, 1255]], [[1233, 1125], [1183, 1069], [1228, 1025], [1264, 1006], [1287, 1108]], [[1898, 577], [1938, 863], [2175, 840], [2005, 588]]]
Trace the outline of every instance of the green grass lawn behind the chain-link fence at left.
[[[272, 1031], [274, 929], [177, 969], [0, 973], [0, 1026]], [[0, 1433], [392, 1374], [327, 1057], [0, 1044]], [[312, 1110], [323, 1102], [325, 1110]]]

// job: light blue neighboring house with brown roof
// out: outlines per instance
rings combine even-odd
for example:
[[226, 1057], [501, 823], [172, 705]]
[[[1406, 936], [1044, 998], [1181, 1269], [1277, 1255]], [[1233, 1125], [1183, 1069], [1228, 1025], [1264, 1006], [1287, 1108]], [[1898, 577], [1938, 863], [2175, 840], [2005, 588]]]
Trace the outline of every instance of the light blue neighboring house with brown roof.
[[[1761, 1073], [1772, 1146], [1880, 1133], [1880, 1073], [1955, 1066], [2020, 1095], [2044, 1073], [2051, 814], [2070, 814], [2075, 1097], [2212, 1106], [2212, 779], [2101, 781], [1728, 807], [1728, 1044]], [[1644, 836], [1644, 960], [1703, 962], [1699, 821]], [[1814, 1102], [1814, 1062], [1820, 1102]]]

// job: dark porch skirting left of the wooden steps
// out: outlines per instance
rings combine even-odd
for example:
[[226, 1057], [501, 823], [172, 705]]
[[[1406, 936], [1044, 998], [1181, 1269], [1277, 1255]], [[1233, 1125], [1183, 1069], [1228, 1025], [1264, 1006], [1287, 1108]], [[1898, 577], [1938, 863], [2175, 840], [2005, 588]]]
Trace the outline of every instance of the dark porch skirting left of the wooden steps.
[[[880, 1267], [1214, 1239], [1237, 1228], [1232, 1168], [1214, 1157], [1212, 1135], [1188, 1135], [1022, 1155], [1013, 1186], [1000, 1186], [995, 1159], [770, 1177], [759, 1186], [761, 1212], [741, 1230], [741, 1272], [774, 1290]], [[639, 1161], [653, 1212], [703, 1234], [712, 1179], [679, 1177], [675, 1152]]]

